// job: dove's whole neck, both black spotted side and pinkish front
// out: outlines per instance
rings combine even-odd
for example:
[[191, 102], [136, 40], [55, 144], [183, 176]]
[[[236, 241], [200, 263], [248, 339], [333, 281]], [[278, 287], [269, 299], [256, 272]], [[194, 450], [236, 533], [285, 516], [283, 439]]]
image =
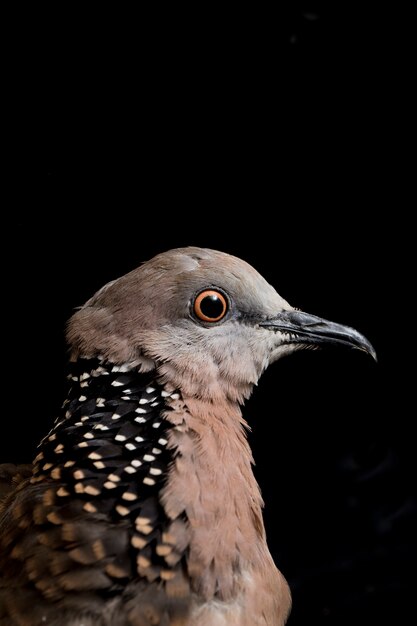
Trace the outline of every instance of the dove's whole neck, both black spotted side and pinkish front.
[[[160, 384], [155, 371], [98, 359], [71, 364], [68, 378], [68, 397], [31, 479], [56, 485], [49, 521], [61, 523], [70, 506], [77, 517], [104, 515], [130, 529], [140, 576], [158, 571], [166, 580], [175, 570], [178, 577], [183, 563], [203, 597], [235, 597], [266, 545], [238, 405], [207, 408]], [[176, 534], [175, 550], [155, 544]]]

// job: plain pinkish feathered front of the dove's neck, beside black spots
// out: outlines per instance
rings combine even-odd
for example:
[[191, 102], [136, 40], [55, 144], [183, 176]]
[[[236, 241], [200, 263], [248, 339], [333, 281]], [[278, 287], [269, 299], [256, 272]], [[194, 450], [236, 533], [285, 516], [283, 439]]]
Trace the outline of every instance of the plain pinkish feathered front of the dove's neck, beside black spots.
[[252, 569], [269, 560], [246, 423], [227, 400], [210, 405], [184, 395], [168, 405], [176, 455], [162, 492], [164, 509], [173, 518], [186, 514], [188, 568], [198, 593], [235, 598]]

